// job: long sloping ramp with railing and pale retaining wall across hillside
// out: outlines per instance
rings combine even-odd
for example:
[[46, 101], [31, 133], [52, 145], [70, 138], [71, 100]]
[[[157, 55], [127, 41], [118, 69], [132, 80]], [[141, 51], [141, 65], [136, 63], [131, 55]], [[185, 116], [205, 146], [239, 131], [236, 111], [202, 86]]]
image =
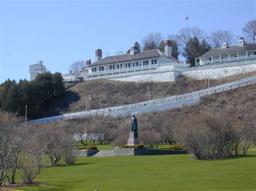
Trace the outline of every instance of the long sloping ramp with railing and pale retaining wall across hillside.
[[157, 100], [145, 101], [145, 102], [134, 103], [129, 105], [120, 105], [117, 107], [108, 107], [108, 108], [96, 109], [96, 110], [90, 110], [90, 111], [73, 112], [70, 114], [63, 114], [63, 115], [54, 116], [54, 117], [35, 119], [32, 121], [28, 121], [27, 124], [49, 123], [49, 122], [56, 122], [56, 121], [75, 119], [75, 118], [81, 118], [81, 117], [97, 116], [97, 115], [118, 116], [118, 115], [129, 115], [129, 114], [138, 114], [142, 112], [165, 110], [172, 107], [179, 107], [182, 104], [196, 103], [200, 101], [201, 96], [220, 93], [223, 91], [248, 86], [254, 83], [256, 83], [256, 76], [251, 76], [251, 77], [246, 77], [244, 79], [235, 80], [233, 82], [224, 83], [211, 88], [194, 91], [192, 93], [169, 96], [169, 97], [164, 97]]

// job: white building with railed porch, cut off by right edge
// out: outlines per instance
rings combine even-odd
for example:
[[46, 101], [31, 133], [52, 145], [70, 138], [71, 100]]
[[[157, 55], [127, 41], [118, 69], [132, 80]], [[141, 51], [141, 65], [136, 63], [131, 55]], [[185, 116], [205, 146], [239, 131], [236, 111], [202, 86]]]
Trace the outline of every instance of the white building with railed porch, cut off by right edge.
[[237, 46], [223, 43], [221, 48], [213, 48], [199, 56], [196, 66], [251, 59], [256, 59], [256, 43], [245, 44], [244, 38], [241, 38]]

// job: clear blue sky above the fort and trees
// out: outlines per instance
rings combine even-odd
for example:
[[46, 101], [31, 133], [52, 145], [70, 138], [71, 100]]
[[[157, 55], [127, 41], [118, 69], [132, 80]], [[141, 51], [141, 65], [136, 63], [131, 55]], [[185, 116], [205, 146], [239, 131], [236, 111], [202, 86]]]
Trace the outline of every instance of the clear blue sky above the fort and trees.
[[43, 60], [52, 73], [68, 73], [77, 60], [126, 52], [149, 32], [166, 37], [189, 25], [206, 33], [232, 30], [241, 36], [255, 19], [255, 1], [23, 1], [1, 2], [0, 83], [30, 79], [29, 65]]

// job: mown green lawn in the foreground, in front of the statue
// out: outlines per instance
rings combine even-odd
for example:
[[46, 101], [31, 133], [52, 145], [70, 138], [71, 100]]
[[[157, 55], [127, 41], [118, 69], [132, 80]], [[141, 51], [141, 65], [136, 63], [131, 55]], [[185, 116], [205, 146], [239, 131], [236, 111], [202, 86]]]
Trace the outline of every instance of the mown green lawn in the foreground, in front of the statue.
[[75, 165], [43, 168], [19, 189], [171, 190], [256, 189], [256, 147], [246, 157], [191, 160], [190, 154], [79, 157]]

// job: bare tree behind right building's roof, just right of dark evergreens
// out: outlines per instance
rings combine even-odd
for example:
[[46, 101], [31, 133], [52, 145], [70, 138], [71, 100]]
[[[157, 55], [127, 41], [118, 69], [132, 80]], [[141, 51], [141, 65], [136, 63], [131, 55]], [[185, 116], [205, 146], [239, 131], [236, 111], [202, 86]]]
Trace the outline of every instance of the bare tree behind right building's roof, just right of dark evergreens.
[[221, 45], [226, 42], [228, 46], [234, 45], [234, 34], [231, 30], [217, 30], [210, 33], [208, 37], [212, 47], [221, 47]]

